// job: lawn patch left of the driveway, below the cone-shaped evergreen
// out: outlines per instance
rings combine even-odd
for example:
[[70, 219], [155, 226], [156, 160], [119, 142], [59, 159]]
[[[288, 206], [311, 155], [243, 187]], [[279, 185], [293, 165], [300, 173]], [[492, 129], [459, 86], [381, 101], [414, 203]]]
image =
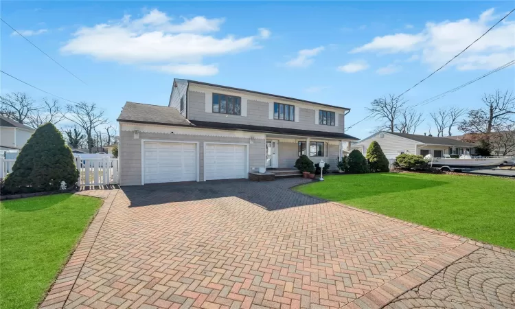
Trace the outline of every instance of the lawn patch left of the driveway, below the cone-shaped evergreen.
[[0, 308], [34, 308], [102, 205], [55, 194], [0, 203]]

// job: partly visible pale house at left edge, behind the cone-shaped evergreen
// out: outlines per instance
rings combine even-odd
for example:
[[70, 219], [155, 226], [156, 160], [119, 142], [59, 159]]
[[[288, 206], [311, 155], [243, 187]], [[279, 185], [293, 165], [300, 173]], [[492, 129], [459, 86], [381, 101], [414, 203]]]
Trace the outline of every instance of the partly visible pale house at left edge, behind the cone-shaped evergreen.
[[21, 149], [34, 129], [0, 115], [0, 150]]

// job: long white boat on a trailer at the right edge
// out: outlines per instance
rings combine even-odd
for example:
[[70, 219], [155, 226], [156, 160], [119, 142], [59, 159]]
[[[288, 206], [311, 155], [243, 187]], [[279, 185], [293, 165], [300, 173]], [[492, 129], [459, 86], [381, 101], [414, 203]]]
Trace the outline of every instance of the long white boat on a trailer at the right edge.
[[510, 164], [514, 157], [471, 157], [461, 155], [459, 158], [427, 158], [431, 159], [431, 166], [435, 168], [489, 168]]

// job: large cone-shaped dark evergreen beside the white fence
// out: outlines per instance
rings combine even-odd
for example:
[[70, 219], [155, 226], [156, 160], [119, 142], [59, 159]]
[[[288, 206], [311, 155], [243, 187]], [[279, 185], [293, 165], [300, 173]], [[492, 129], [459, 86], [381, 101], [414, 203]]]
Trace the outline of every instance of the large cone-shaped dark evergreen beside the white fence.
[[65, 139], [53, 124], [44, 124], [21, 148], [5, 188], [12, 193], [53, 191], [60, 189], [61, 181], [72, 187], [78, 177]]

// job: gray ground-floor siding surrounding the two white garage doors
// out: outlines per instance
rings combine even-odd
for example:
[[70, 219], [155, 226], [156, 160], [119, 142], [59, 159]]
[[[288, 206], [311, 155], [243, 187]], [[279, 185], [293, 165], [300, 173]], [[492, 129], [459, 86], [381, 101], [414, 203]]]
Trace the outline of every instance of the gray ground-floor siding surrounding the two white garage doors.
[[179, 135], [166, 133], [140, 132], [139, 139], [134, 138], [132, 131], [121, 131], [120, 150], [120, 183], [121, 185], [141, 185], [141, 139], [161, 139], [170, 141], [198, 141], [199, 146], [199, 168], [200, 180], [204, 179], [204, 142], [212, 141], [218, 143], [240, 143], [249, 144], [249, 172], [258, 171], [265, 165], [265, 141], [264, 139], [253, 139], [239, 137], [209, 137], [198, 135]]

